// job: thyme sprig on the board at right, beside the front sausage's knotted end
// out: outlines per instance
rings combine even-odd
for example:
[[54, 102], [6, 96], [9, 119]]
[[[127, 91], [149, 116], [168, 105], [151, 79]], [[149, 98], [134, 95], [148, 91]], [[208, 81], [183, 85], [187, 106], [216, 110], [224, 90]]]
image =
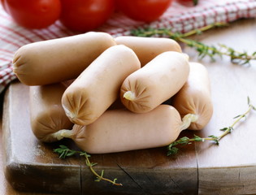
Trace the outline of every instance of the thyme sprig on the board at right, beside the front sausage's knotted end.
[[247, 98], [247, 104], [248, 104], [248, 110], [245, 111], [245, 113], [241, 114], [241, 115], [236, 115], [233, 119], [235, 119], [235, 121], [226, 128], [221, 128], [220, 130], [223, 131], [223, 133], [217, 137], [214, 135], [211, 135], [209, 137], [198, 137], [197, 135], [194, 135], [193, 138], [189, 138], [189, 137], [181, 137], [180, 139], [172, 142], [170, 145], [167, 146], [167, 156], [172, 155], [172, 154], [177, 154], [179, 149], [176, 147], [176, 145], [189, 145], [192, 144], [193, 141], [214, 141], [214, 143], [216, 145], [219, 145], [219, 141], [225, 137], [226, 135], [228, 135], [228, 133], [232, 132], [234, 130], [234, 126], [241, 121], [241, 119], [245, 118], [246, 115], [249, 114], [250, 111], [256, 111], [256, 107], [253, 106], [249, 100], [249, 97]]

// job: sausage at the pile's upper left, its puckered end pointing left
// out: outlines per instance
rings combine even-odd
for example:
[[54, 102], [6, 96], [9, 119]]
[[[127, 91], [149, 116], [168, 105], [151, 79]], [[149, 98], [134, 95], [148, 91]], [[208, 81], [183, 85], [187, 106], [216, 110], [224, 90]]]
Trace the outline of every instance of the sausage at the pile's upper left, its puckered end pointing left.
[[33, 42], [20, 47], [13, 58], [13, 72], [25, 85], [48, 85], [75, 79], [114, 38], [105, 32]]

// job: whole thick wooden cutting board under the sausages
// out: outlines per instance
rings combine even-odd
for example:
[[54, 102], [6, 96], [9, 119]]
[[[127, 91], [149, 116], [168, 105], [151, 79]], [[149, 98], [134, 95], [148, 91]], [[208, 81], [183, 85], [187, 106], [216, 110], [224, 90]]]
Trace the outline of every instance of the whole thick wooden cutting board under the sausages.
[[[223, 43], [237, 50], [254, 52], [255, 20], [216, 29], [202, 35], [208, 45]], [[209, 36], [211, 35], [211, 36]], [[237, 36], [241, 35], [241, 36]], [[197, 54], [184, 48], [190, 61]], [[202, 131], [182, 132], [181, 136], [219, 136], [236, 115], [244, 113], [247, 97], [256, 105], [256, 64], [251, 67], [217, 58], [202, 61], [210, 73], [214, 115]], [[256, 113], [251, 112], [224, 137], [219, 145], [197, 142], [166, 156], [165, 148], [118, 154], [92, 155], [110, 179], [123, 187], [95, 182], [95, 177], [80, 157], [59, 159], [53, 153], [59, 144], [76, 148], [72, 141], [43, 144], [33, 136], [28, 117], [28, 87], [13, 83], [7, 90], [3, 111], [4, 169], [15, 189], [29, 192], [68, 194], [256, 194]]]

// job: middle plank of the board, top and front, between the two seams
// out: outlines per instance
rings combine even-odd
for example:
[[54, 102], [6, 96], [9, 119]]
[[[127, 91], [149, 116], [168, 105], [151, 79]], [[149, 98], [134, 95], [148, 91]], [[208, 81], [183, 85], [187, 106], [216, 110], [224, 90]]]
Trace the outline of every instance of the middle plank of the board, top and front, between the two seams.
[[[183, 136], [192, 136], [184, 133]], [[165, 149], [136, 150], [117, 154], [93, 155], [98, 173], [124, 186], [91, 182], [88, 169], [82, 168], [82, 188], [89, 194], [197, 194], [197, 162], [189, 145], [179, 156], [167, 157]], [[102, 181], [103, 183], [103, 181]], [[90, 189], [90, 190], [88, 190]]]

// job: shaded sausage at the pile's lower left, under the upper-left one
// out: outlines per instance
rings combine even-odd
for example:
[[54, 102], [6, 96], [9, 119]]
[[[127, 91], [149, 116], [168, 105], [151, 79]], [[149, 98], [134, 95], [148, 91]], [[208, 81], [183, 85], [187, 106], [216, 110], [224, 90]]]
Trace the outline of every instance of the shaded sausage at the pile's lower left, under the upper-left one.
[[58, 141], [54, 132], [72, 128], [65, 115], [61, 98], [66, 87], [62, 83], [29, 86], [30, 123], [33, 134], [44, 142]]

